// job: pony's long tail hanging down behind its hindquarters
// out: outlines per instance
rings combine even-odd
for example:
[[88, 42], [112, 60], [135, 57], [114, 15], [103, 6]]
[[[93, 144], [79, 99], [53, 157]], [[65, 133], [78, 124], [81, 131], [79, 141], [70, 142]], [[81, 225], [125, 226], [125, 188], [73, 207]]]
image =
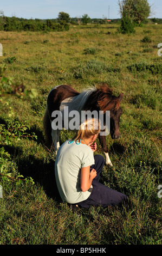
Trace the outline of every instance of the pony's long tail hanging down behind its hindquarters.
[[48, 108], [47, 107], [46, 107], [46, 111], [45, 111], [44, 117], [43, 117], [43, 131], [44, 131], [46, 144], [48, 146], [51, 146], [51, 144], [52, 144], [51, 122], [50, 122], [50, 119], [49, 119], [49, 114], [48, 114]]

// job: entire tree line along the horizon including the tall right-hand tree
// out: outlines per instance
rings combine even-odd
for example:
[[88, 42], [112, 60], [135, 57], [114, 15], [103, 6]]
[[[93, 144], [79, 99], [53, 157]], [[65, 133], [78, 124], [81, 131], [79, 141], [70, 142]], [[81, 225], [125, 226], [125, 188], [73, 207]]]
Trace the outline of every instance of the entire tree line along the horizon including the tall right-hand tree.
[[[89, 23], [105, 24], [120, 23], [119, 32], [133, 33], [135, 26], [141, 26], [148, 22], [148, 16], [151, 14], [151, 7], [147, 0], [122, 0], [119, 1], [119, 10], [121, 19], [107, 20], [90, 19], [88, 14], [82, 17], [71, 18], [68, 13], [63, 11], [59, 13], [57, 19], [23, 19], [18, 17], [7, 17], [0, 10], [0, 31], [68, 31], [70, 24], [87, 25]], [[162, 19], [150, 19], [154, 23], [162, 23]]]

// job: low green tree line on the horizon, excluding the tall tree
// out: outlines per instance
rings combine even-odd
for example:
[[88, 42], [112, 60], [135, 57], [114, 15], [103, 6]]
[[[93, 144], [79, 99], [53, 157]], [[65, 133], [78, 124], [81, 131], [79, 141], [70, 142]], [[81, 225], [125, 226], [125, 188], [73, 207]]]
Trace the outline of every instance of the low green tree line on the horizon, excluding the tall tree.
[[[112, 20], [111, 23], [119, 22]], [[15, 16], [7, 17], [0, 11], [0, 31], [68, 31], [70, 24], [87, 25], [88, 23], [105, 24], [106, 19], [90, 19], [88, 14], [71, 18], [69, 14], [60, 12], [57, 19], [23, 19]]]

